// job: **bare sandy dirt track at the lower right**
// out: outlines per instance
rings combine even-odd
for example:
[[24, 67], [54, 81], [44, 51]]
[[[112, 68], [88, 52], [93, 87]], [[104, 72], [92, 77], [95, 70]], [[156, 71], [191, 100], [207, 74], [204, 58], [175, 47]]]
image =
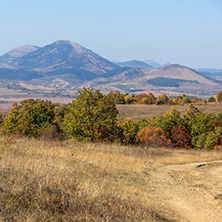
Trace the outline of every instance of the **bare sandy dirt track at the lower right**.
[[147, 172], [150, 199], [166, 218], [222, 221], [222, 161], [153, 166]]

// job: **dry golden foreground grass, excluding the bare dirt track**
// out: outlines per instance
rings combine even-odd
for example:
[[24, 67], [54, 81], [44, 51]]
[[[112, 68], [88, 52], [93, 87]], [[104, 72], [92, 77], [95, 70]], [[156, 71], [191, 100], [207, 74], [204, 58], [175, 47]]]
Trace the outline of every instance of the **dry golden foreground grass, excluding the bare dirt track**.
[[222, 153], [1, 138], [0, 221], [172, 221], [149, 197], [155, 166]]

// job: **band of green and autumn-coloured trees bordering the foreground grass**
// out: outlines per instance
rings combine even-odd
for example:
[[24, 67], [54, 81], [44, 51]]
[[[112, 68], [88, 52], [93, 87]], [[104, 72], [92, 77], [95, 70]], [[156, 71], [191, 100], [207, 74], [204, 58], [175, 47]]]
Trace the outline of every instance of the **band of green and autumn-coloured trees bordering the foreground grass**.
[[[121, 97], [117, 92], [103, 95], [99, 90], [83, 88], [67, 105], [39, 99], [23, 100], [13, 104], [8, 116], [0, 116], [1, 134], [145, 147], [222, 149], [222, 113], [203, 113], [190, 103], [183, 117], [173, 108], [149, 120], [120, 121], [116, 103]], [[167, 97], [162, 95], [156, 100], [161, 101], [160, 98]]]

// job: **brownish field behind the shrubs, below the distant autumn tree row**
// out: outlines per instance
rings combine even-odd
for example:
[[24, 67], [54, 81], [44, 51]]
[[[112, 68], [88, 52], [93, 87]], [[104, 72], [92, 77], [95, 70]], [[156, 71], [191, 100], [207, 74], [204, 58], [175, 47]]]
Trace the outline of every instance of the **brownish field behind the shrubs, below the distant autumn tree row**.
[[[176, 108], [181, 112], [181, 115], [185, 114], [185, 110], [189, 104], [184, 105], [117, 105], [119, 110], [119, 118], [131, 118], [133, 120], [140, 119], [152, 119], [153, 116], [163, 115], [165, 112], [169, 112], [171, 108]], [[222, 104], [220, 103], [208, 103], [194, 104], [199, 110], [207, 113], [220, 113], [222, 112]]]

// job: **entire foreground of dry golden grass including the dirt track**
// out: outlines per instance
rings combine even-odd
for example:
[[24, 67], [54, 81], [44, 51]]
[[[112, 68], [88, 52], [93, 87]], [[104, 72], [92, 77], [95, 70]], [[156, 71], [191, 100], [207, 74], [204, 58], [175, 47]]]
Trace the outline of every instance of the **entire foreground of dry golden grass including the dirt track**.
[[0, 221], [221, 221], [222, 153], [1, 137]]

